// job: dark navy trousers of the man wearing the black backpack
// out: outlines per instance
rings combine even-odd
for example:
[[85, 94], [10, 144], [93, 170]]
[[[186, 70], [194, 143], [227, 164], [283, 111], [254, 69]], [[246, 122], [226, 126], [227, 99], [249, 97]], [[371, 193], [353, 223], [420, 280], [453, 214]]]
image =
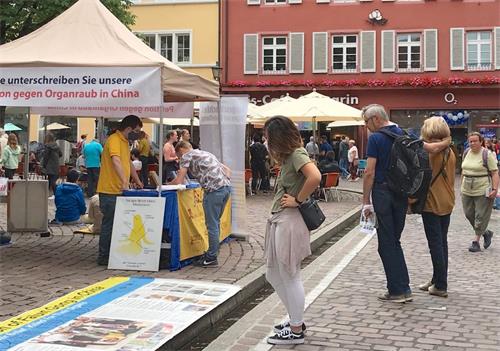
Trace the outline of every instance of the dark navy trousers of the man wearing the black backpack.
[[391, 295], [409, 293], [410, 278], [400, 241], [408, 200], [395, 196], [387, 184], [377, 183], [373, 184], [372, 200], [377, 215], [378, 253], [384, 265], [387, 290]]

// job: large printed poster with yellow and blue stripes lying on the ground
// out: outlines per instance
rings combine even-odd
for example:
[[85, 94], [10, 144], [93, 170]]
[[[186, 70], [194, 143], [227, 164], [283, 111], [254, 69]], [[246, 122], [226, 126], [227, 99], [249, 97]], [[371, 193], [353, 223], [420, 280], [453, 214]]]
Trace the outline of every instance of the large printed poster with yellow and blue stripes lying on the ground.
[[156, 350], [240, 290], [200, 281], [109, 278], [0, 322], [0, 350]]

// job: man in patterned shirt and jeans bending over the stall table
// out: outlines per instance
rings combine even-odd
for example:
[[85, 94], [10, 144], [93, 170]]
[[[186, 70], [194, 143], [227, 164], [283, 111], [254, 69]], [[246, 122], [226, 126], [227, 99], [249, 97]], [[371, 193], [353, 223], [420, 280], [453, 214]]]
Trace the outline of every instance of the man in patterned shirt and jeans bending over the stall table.
[[203, 210], [208, 229], [208, 251], [194, 264], [217, 267], [219, 253], [220, 219], [231, 194], [230, 169], [210, 152], [194, 150], [190, 143], [180, 141], [175, 146], [179, 157], [179, 171], [169, 184], [182, 184], [189, 171], [205, 190]]

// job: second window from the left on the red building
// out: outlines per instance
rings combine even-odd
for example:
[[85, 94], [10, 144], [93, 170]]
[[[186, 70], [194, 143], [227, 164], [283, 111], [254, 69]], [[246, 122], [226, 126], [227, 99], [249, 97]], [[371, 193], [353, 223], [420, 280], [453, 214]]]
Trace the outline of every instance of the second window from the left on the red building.
[[332, 42], [333, 72], [356, 72], [358, 37], [356, 35], [334, 35]]

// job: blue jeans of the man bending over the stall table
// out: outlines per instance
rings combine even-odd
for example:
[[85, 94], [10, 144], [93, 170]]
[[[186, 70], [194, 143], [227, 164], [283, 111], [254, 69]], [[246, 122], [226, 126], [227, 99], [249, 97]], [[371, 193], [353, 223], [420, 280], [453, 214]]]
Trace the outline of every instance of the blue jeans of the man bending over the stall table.
[[217, 258], [220, 241], [220, 218], [231, 195], [231, 187], [223, 186], [215, 191], [205, 191], [203, 196], [203, 210], [205, 225], [208, 229], [208, 258]]

